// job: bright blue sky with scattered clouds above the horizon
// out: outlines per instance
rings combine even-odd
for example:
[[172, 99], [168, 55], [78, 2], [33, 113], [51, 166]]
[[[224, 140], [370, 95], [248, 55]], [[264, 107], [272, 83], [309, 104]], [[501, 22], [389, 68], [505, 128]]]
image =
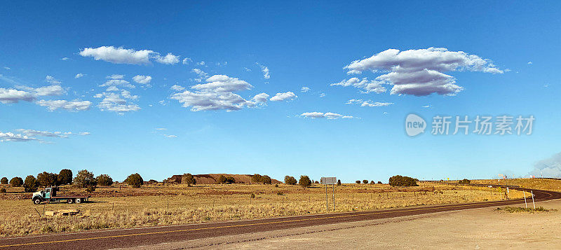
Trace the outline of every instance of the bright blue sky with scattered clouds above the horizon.
[[[4, 4], [0, 175], [527, 175], [560, 152], [559, 10], [553, 1]], [[372, 88], [342, 86], [353, 77]], [[411, 138], [409, 113], [428, 123], [536, 120], [531, 135], [429, 127]]]

